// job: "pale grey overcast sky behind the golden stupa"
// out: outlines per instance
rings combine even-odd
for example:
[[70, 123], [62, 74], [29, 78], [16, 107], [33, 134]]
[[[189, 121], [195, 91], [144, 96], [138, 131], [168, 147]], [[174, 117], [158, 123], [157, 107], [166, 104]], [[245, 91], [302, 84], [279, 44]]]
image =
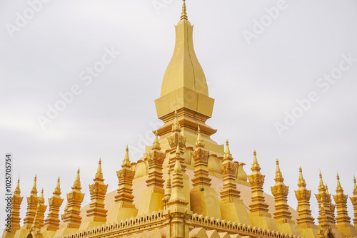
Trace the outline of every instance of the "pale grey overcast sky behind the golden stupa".
[[[154, 100], [174, 51], [181, 4], [0, 1], [1, 191], [9, 152], [14, 182], [21, 177], [21, 195], [29, 196], [37, 173], [46, 205], [58, 176], [66, 197], [78, 167], [86, 193], [83, 205], [88, 203], [99, 157], [109, 191], [117, 188], [116, 170], [126, 145], [131, 161], [137, 161], [144, 145], [152, 143], [150, 131], [161, 125]], [[228, 139], [234, 159], [247, 164], [248, 174], [256, 150], [269, 194], [278, 158], [294, 208], [299, 166], [313, 194], [321, 170], [329, 192], [336, 193], [339, 172], [345, 193], [352, 195], [357, 2], [186, 4], [196, 55], [216, 100], [207, 121], [218, 129], [213, 140], [223, 144]], [[56, 107], [61, 111], [49, 109]], [[311, 203], [316, 218], [314, 195]], [[353, 217], [349, 200], [348, 206]], [[25, 212], [26, 198], [22, 219]], [[0, 215], [3, 222], [5, 212]]]

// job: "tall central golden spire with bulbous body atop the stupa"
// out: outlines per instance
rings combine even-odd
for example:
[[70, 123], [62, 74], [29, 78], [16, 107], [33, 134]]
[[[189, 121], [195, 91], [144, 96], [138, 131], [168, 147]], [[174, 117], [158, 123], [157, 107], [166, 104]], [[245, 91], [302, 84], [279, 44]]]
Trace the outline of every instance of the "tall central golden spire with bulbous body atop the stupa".
[[[174, 53], [164, 74], [160, 98], [155, 100], [158, 118], [164, 121], [158, 129], [159, 135], [168, 136], [171, 123], [176, 120], [175, 110], [183, 135], [193, 137], [198, 125], [206, 135], [212, 135], [216, 130], [205, 122], [212, 116], [214, 100], [208, 96], [206, 76], [193, 48], [193, 26], [188, 21], [186, 1], [182, 3], [181, 18], [175, 30]], [[213, 141], [210, 139], [209, 143]]]

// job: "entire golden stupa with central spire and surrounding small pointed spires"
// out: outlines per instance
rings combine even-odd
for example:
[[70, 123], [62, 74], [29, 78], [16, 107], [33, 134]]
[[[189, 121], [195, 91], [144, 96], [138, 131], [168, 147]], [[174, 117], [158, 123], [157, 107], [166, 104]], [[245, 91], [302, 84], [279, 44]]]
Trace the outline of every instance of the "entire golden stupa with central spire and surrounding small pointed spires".
[[40, 197], [37, 195], [35, 177], [21, 227], [23, 197], [18, 181], [11, 198], [11, 226], [4, 229], [3, 238], [357, 237], [356, 180], [350, 198], [353, 226], [347, 213], [348, 196], [343, 194], [338, 175], [333, 204], [320, 174], [315, 195], [319, 216], [315, 224], [310, 209], [311, 191], [306, 189], [301, 168], [295, 211], [288, 206], [289, 187], [283, 182], [278, 160], [272, 197], [263, 192], [265, 176], [260, 172], [256, 151], [251, 174], [247, 175], [243, 162], [233, 160], [228, 140], [226, 145], [211, 140], [216, 130], [206, 125], [206, 120], [211, 118], [214, 100], [208, 96], [192, 33], [183, 0], [174, 55], [164, 74], [160, 98], [155, 100], [164, 125], [154, 132], [153, 145], [146, 146], [138, 162], [130, 161], [126, 148], [121, 170], [116, 172], [118, 190], [107, 193], [99, 160], [94, 182], [89, 185], [91, 203], [81, 207], [84, 193], [78, 170], [60, 216], [59, 209], [64, 205], [60, 179], [45, 205], [43, 191]]

